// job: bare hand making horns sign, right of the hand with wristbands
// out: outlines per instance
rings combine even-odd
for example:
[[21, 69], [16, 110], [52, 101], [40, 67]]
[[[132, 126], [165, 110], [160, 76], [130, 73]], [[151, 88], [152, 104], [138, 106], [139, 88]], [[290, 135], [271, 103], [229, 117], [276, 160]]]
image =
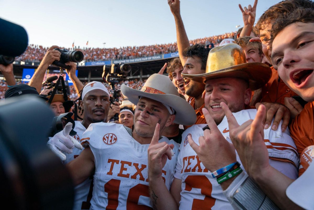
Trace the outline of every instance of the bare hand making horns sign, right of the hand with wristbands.
[[229, 135], [236, 148], [241, 162], [250, 175], [258, 173], [269, 166], [267, 147], [264, 143], [263, 120], [266, 108], [260, 105], [254, 120], [248, 120], [239, 125], [228, 106], [221, 102], [220, 106], [225, 112], [229, 124]]

